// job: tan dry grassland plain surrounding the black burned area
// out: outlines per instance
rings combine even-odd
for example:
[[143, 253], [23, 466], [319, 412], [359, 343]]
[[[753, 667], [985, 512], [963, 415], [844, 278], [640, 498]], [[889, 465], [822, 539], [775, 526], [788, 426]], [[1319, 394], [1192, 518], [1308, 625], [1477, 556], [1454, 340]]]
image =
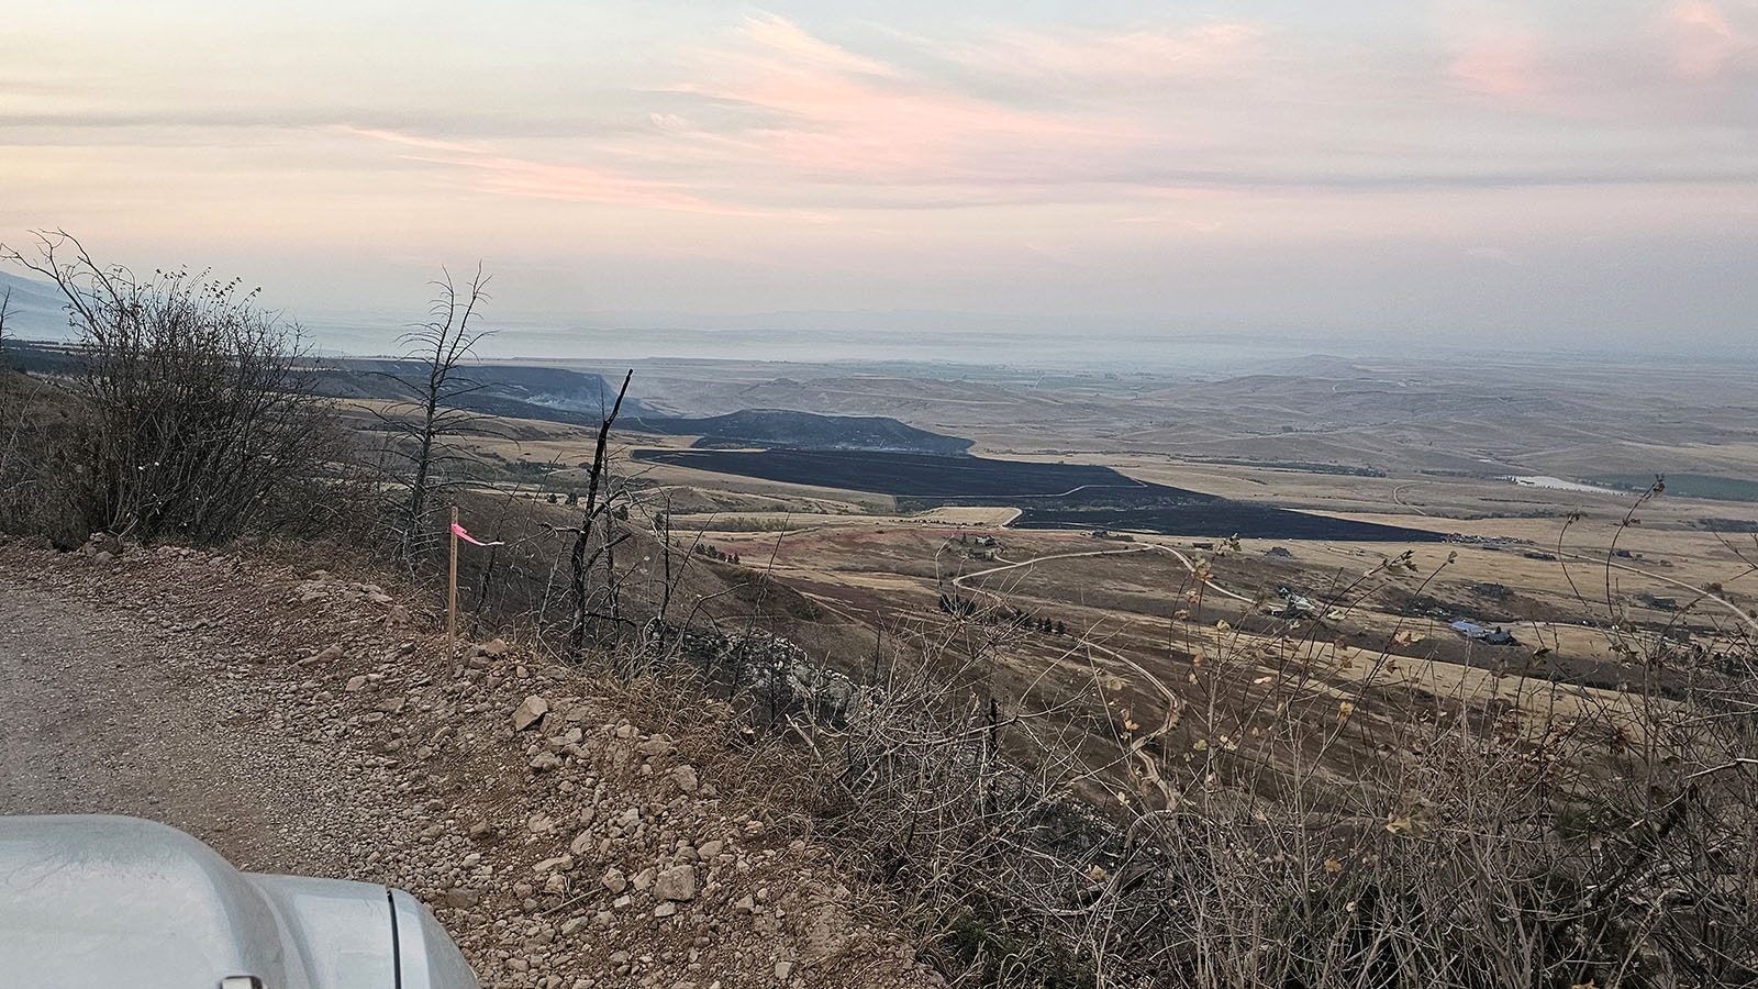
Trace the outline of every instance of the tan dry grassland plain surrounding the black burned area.
[[[1630, 635], [1668, 634], [1667, 648], [1707, 658], [1758, 604], [1754, 538], [1700, 526], [1758, 523], [1758, 503], [1667, 494], [1638, 503], [1637, 493], [1507, 479], [1667, 470], [1758, 479], [1746, 414], [1758, 401], [1733, 375], [1702, 371], [1684, 391], [1682, 371], [1355, 368], [1345, 377], [1322, 363], [1313, 368], [1322, 373], [1044, 389], [1000, 371], [986, 380], [775, 371], [679, 364], [636, 382], [649, 389], [643, 401], [677, 412], [895, 415], [970, 436], [983, 456], [1111, 466], [1231, 500], [1454, 537], [1405, 546], [1011, 530], [1014, 509], [900, 512], [884, 494], [635, 461], [636, 449], [682, 449], [691, 438], [615, 435], [614, 468], [649, 512], [670, 510], [675, 535], [737, 553], [798, 591], [844, 630], [835, 641], [858, 641], [863, 628], [881, 642], [963, 656], [960, 676], [974, 690], [1057, 711], [1072, 744], [1101, 762], [1115, 757], [1127, 723], [1215, 702], [1197, 683], [1217, 683], [1217, 662], [1234, 665], [1218, 709], [1260, 706], [1253, 690], [1297, 669], [1303, 690], [1355, 699], [1362, 725], [1484, 702], [1505, 704], [1510, 723], [1536, 725], [1580, 706], [1626, 704], [1624, 688], [1644, 676], [1628, 662]], [[584, 486], [585, 429], [503, 421], [469, 443], [522, 472], [531, 498]], [[1311, 612], [1292, 611], [1278, 590], [1311, 602]], [[949, 614], [948, 597], [1007, 618]], [[1016, 623], [1020, 614], [1032, 625]], [[1042, 619], [1062, 632], [1037, 630]], [[1503, 628], [1515, 644], [1466, 641], [1456, 619]], [[853, 672], [867, 653], [825, 658]], [[1166, 722], [1155, 744], [1210, 737], [1211, 720]]]

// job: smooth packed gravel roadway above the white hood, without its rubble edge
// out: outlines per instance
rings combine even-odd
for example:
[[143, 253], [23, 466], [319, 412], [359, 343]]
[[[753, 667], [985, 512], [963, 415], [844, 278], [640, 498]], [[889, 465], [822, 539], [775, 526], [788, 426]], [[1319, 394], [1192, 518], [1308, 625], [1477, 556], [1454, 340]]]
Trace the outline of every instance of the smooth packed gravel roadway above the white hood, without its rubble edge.
[[274, 730], [250, 660], [178, 604], [81, 590], [0, 572], [0, 813], [148, 817], [248, 869], [357, 875], [359, 767]]

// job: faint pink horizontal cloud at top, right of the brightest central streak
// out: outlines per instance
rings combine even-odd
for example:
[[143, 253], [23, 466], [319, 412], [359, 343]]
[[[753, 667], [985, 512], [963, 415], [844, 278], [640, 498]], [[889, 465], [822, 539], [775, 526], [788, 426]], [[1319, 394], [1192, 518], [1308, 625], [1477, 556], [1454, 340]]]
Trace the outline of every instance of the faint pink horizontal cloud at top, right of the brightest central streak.
[[953, 58], [1014, 76], [1044, 74], [1081, 81], [1176, 79], [1232, 67], [1257, 55], [1264, 33], [1253, 25], [1185, 30], [1009, 32], [965, 46]]

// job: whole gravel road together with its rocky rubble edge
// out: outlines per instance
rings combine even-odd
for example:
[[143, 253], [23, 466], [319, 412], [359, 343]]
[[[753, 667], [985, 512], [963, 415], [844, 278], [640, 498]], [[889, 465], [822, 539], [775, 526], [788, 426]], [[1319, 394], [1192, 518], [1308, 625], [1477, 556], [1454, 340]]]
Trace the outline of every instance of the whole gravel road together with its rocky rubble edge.
[[0, 811], [151, 817], [248, 869], [401, 885], [485, 985], [939, 982], [716, 711], [499, 641], [448, 662], [359, 577], [0, 546]]

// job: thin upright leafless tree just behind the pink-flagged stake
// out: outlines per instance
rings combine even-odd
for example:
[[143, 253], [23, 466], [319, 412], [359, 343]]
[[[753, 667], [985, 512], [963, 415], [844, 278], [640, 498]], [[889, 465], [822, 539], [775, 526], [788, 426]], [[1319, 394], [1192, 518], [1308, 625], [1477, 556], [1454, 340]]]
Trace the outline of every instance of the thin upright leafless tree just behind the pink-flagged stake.
[[376, 412], [385, 431], [403, 440], [392, 447], [392, 456], [408, 463], [403, 477], [408, 496], [397, 512], [397, 549], [406, 560], [431, 549], [427, 514], [434, 494], [452, 484], [443, 470], [461, 459], [452, 438], [476, 428], [476, 417], [457, 401], [483, 387], [462, 375], [461, 366], [487, 336], [487, 331], [475, 329], [475, 319], [489, 301], [489, 278], [476, 266], [476, 275], [459, 287], [452, 273], [441, 269], [432, 285], [431, 319], [403, 334], [406, 350], [394, 370], [374, 371], [408, 394], [404, 401]]

